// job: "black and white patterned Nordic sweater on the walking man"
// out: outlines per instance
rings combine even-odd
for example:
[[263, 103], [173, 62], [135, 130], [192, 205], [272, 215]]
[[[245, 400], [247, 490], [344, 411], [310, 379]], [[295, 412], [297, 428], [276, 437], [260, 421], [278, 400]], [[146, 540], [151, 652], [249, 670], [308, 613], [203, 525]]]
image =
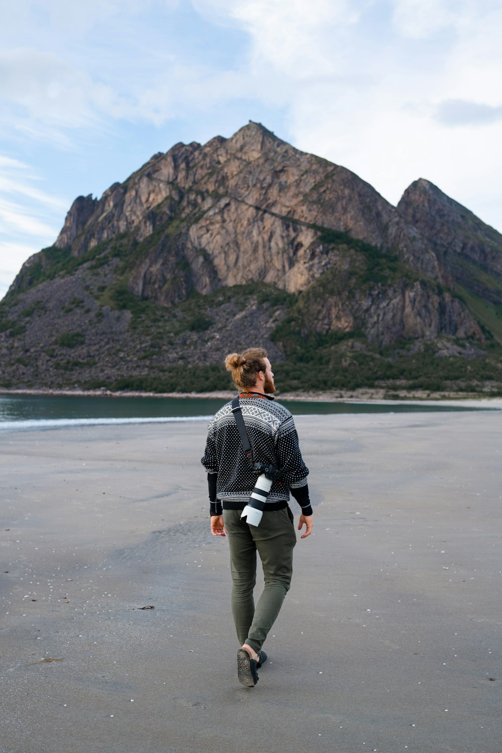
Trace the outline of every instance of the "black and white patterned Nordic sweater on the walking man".
[[[239, 404], [253, 459], [272, 463], [282, 471], [281, 479], [272, 483], [264, 511], [285, 508], [291, 490], [303, 513], [310, 515], [309, 468], [300, 453], [293, 416], [273, 398], [252, 394], [256, 397], [240, 396]], [[208, 425], [201, 462], [208, 471], [211, 514], [221, 514], [221, 505], [225, 510], [245, 508], [257, 477], [244, 454], [231, 401], [218, 410]]]

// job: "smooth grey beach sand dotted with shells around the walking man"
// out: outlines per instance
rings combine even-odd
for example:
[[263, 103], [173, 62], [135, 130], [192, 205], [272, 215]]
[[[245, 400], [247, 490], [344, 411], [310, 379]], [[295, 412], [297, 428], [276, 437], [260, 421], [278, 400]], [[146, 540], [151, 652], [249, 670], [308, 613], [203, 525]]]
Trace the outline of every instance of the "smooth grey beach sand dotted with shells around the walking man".
[[500, 748], [500, 413], [296, 422], [315, 528], [252, 689], [205, 422], [0, 436], [0, 750]]

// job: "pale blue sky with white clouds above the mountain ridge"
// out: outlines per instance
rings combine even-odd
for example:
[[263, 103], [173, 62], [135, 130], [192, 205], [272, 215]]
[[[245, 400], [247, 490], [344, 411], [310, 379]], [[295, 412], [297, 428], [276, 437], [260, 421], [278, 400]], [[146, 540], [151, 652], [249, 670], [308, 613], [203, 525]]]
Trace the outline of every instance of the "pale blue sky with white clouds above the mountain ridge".
[[502, 0], [2, 2], [0, 298], [75, 197], [248, 120], [502, 231], [500, 81]]

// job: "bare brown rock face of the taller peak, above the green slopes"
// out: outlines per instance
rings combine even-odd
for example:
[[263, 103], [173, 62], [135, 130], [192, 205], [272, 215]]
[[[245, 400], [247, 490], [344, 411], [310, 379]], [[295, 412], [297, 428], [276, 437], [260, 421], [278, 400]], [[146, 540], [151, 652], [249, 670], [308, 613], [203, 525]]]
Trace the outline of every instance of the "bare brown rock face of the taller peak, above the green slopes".
[[[81, 255], [120, 233], [141, 242], [166, 226], [130, 279], [135, 294], [163, 305], [190, 288], [207, 293], [251, 281], [305, 290], [330, 267], [314, 226], [395, 248], [412, 267], [448, 282], [430, 244], [373, 187], [258, 123], [231, 139], [177, 144], [155, 155], [125, 184], [105, 191], [90, 216], [89, 210], [87, 200], [74, 203], [58, 248], [71, 245]], [[169, 280], [184, 261], [190, 274], [173, 290]]]

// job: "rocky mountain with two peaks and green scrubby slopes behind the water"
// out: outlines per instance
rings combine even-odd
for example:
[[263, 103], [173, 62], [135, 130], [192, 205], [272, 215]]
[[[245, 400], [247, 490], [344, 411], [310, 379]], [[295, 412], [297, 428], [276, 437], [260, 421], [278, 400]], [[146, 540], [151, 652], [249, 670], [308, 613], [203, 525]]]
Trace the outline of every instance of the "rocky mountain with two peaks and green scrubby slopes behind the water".
[[396, 208], [250, 122], [75, 200], [0, 304], [0, 382], [211, 389], [263, 342], [300, 388], [496, 383], [501, 295], [502, 236], [433, 184]]

